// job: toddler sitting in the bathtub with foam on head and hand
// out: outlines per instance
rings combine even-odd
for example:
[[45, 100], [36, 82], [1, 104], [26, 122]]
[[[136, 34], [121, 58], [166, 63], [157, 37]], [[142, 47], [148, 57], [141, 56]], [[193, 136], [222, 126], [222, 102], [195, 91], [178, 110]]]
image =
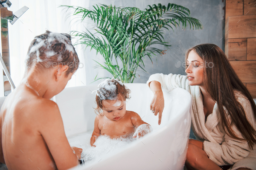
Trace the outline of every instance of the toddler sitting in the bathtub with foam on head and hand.
[[[126, 99], [131, 91], [118, 79], [106, 79], [98, 85], [96, 92], [96, 112], [91, 146], [99, 135], [110, 138], [141, 138], [152, 131], [151, 126], [132, 111], [126, 110]], [[136, 131], [135, 131], [136, 129]]]

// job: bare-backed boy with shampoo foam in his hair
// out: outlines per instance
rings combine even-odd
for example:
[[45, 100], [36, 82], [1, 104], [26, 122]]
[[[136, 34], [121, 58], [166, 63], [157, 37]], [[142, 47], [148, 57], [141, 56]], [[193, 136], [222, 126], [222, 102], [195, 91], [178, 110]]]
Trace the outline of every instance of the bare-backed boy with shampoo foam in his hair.
[[78, 68], [70, 39], [46, 31], [30, 44], [23, 79], [0, 111], [0, 162], [8, 170], [67, 170], [78, 165], [82, 149], [70, 147], [59, 108], [50, 100]]

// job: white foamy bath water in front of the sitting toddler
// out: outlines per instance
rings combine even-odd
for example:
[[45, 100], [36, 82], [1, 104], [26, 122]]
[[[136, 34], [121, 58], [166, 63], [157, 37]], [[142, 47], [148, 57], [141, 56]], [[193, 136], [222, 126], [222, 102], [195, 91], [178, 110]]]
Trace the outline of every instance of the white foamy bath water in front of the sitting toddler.
[[94, 143], [96, 147], [92, 147], [90, 144], [91, 137], [92, 133], [86, 133], [69, 139], [70, 146], [83, 149], [81, 159], [85, 161], [85, 165], [98, 162], [116, 154], [127, 147], [132, 141], [136, 141], [135, 138], [132, 138], [132, 135], [127, 136], [127, 138], [118, 139], [111, 139], [106, 135], [100, 135]]

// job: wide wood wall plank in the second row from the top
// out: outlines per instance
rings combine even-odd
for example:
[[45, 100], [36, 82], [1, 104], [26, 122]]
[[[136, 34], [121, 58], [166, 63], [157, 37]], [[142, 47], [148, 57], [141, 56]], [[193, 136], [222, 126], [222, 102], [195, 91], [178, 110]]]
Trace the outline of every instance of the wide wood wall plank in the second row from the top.
[[225, 27], [226, 39], [256, 38], [256, 15], [229, 16]]

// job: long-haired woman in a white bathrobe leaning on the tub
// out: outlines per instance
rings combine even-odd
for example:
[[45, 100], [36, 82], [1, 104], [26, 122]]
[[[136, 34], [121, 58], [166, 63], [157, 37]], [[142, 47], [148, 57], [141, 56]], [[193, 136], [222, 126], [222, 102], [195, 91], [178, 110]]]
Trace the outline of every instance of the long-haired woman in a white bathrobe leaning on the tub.
[[220, 170], [237, 162], [233, 169], [256, 169], [256, 105], [249, 91], [217, 45], [197, 45], [186, 56], [187, 75], [149, 77], [154, 93], [150, 108], [158, 115], [158, 124], [164, 109], [161, 88], [184, 88], [192, 96], [192, 130], [197, 137], [189, 140], [187, 168]]

